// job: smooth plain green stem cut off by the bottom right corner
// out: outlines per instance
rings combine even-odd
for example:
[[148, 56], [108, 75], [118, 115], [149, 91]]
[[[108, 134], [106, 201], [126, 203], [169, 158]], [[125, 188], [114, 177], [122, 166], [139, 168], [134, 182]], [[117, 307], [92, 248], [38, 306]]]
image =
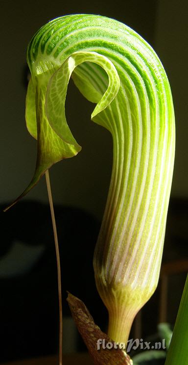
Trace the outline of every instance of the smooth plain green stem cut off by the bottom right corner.
[[188, 364], [188, 276], [165, 365]]

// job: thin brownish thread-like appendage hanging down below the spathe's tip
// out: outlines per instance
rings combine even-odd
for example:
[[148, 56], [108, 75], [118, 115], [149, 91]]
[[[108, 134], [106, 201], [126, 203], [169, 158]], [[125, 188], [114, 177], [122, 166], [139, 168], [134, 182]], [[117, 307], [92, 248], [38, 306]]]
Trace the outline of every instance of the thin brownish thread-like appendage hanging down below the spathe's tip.
[[53, 225], [53, 234], [54, 234], [55, 251], [56, 251], [56, 259], [57, 259], [58, 294], [59, 294], [59, 365], [62, 365], [63, 317], [62, 317], [62, 294], [61, 294], [61, 264], [60, 264], [57, 229], [56, 229], [56, 223], [55, 223], [55, 215], [54, 215], [54, 209], [53, 209], [53, 201], [52, 201], [52, 195], [51, 195], [51, 187], [50, 187], [48, 170], [46, 171], [46, 181], [47, 181], [47, 193], [48, 193], [49, 206], [50, 206], [50, 211], [51, 211], [51, 220], [52, 220], [52, 225]]

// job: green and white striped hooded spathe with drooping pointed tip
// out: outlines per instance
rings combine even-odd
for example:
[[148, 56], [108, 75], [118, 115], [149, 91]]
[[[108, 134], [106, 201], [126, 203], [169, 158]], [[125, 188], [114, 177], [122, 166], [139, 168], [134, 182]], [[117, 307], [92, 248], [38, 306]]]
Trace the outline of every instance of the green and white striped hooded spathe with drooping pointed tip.
[[34, 178], [22, 195], [53, 163], [81, 150], [65, 116], [70, 77], [96, 104], [92, 120], [112, 134], [112, 177], [94, 273], [109, 311], [109, 336], [126, 342], [135, 314], [157, 286], [163, 252], [175, 146], [164, 68], [131, 28], [85, 14], [60, 17], [39, 29], [27, 61], [32, 79], [26, 123], [37, 138], [38, 155]]

